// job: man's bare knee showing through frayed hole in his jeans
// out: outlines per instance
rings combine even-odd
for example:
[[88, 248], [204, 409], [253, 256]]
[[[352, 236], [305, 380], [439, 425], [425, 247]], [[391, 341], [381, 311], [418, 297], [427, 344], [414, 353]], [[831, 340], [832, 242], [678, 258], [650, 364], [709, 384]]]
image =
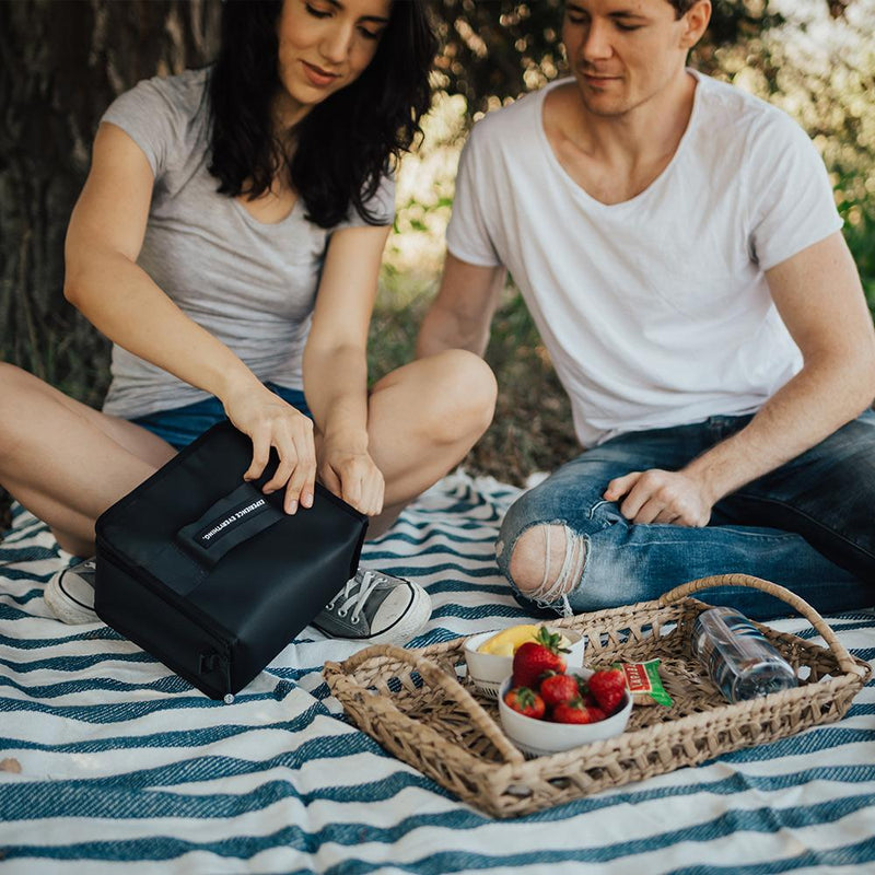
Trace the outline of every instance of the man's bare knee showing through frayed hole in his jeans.
[[567, 525], [551, 523], [526, 529], [511, 552], [509, 574], [520, 593], [549, 604], [567, 596], [586, 563], [586, 540]]

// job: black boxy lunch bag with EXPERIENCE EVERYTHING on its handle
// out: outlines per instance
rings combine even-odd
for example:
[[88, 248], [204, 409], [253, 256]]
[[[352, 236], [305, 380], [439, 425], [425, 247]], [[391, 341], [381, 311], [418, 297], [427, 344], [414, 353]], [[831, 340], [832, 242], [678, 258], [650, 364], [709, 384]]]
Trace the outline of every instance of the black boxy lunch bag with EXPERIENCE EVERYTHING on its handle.
[[245, 482], [252, 443], [214, 425], [96, 524], [97, 616], [213, 699], [245, 687], [355, 573], [368, 517], [316, 485]]

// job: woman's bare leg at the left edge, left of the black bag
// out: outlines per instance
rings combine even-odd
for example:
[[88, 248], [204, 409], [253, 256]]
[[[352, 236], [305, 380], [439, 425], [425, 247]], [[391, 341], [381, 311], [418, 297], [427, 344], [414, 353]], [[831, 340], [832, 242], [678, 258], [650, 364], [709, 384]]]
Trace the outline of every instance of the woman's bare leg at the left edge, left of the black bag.
[[0, 483], [58, 544], [94, 553], [94, 522], [176, 451], [151, 432], [0, 363]]

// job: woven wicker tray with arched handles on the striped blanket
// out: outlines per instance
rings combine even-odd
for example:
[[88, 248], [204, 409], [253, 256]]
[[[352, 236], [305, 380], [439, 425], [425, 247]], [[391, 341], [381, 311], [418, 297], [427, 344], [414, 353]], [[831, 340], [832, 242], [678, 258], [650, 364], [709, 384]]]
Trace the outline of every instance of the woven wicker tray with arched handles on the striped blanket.
[[[796, 689], [726, 703], [689, 653], [692, 622], [710, 607], [690, 596], [712, 586], [762, 590], [817, 630], [827, 648], [757, 623], [796, 670]], [[494, 700], [465, 677], [464, 638], [420, 651], [374, 645], [326, 663], [324, 675], [351, 720], [390, 754], [480, 810], [516, 817], [839, 720], [872, 672], [807, 602], [742, 574], [702, 578], [654, 602], [550, 626], [586, 634], [591, 667], [658, 657], [673, 707], [635, 707], [622, 735], [526, 759], [502, 733]]]

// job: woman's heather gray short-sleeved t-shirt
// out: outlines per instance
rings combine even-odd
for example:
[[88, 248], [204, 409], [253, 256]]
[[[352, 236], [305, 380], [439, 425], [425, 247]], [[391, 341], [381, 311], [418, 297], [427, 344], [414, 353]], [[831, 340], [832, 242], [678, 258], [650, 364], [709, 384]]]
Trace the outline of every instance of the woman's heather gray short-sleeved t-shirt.
[[[145, 80], [103, 116], [143, 150], [155, 175], [138, 264], [259, 380], [302, 389], [301, 358], [331, 230], [308, 222], [300, 198], [283, 221], [265, 224], [217, 192], [219, 180], [207, 170], [208, 77], [194, 70]], [[385, 224], [394, 198], [386, 177], [368, 205]], [[332, 230], [363, 224], [351, 208]], [[112, 375], [103, 409], [127, 419], [208, 397], [118, 345]]]

